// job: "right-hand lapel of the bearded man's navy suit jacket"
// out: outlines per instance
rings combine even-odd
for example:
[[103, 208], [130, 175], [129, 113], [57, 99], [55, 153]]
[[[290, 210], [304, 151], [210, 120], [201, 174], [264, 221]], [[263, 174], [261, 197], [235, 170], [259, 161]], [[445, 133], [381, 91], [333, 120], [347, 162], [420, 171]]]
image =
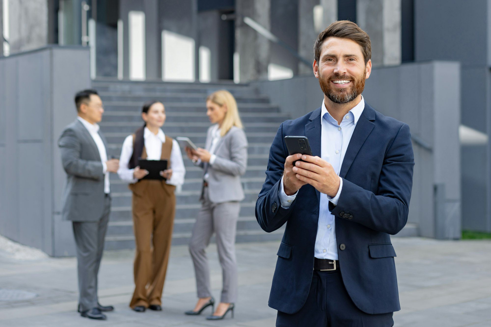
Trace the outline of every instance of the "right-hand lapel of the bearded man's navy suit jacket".
[[346, 150], [346, 154], [343, 159], [343, 164], [341, 165], [341, 171], [339, 172], [339, 176], [341, 178], [346, 176], [351, 164], [353, 163], [353, 160], [355, 160], [356, 154], [358, 154], [361, 146], [363, 143], [365, 143], [368, 135], [370, 135], [372, 132], [372, 129], [375, 126], [373, 121], [375, 121], [375, 110], [365, 103], [365, 108], [363, 109], [363, 112], [356, 123], [350, 144], [348, 145], [348, 149]]

